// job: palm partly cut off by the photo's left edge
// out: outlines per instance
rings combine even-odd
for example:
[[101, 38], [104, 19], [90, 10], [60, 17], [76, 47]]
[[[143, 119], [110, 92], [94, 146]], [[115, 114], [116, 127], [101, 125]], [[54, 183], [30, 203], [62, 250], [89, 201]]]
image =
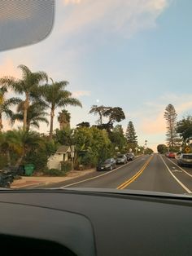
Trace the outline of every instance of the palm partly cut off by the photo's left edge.
[[7, 88], [5, 86], [2, 86], [0, 88], [0, 131], [2, 130], [2, 114], [4, 113], [6, 117], [11, 119], [12, 122], [12, 116], [13, 112], [11, 111], [11, 107], [15, 104], [20, 104], [21, 99], [12, 97], [10, 99], [5, 99], [5, 94], [7, 93]]

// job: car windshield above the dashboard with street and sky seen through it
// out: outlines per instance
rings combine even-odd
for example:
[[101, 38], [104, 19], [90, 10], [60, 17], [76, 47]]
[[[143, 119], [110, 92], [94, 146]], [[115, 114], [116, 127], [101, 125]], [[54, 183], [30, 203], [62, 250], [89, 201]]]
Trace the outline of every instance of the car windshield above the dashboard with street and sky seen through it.
[[192, 194], [192, 1], [57, 0], [41, 42], [49, 13], [8, 2], [0, 188]]

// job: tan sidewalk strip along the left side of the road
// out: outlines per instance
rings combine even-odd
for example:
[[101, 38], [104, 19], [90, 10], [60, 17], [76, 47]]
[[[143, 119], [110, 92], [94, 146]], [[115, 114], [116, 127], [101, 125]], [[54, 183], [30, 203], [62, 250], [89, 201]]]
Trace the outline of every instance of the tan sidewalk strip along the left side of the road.
[[63, 177], [26, 177], [23, 176], [22, 179], [16, 179], [13, 183], [11, 183], [11, 188], [27, 188], [31, 186], [39, 186], [39, 185], [48, 185], [51, 183], [60, 183], [69, 179], [74, 179], [80, 176], [84, 176], [85, 174], [89, 174], [94, 172], [95, 169], [90, 170], [72, 170], [68, 172], [66, 176]]

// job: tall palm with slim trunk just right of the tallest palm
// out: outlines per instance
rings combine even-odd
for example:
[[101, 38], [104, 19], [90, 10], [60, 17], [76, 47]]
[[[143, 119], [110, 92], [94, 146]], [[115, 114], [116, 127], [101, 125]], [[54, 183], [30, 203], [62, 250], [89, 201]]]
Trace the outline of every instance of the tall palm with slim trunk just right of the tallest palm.
[[51, 78], [50, 80], [52, 84], [41, 86], [41, 92], [46, 108], [50, 108], [50, 139], [52, 139], [55, 109], [68, 105], [82, 107], [82, 104], [78, 99], [72, 98], [70, 91], [65, 90], [68, 86], [67, 81], [54, 82]]

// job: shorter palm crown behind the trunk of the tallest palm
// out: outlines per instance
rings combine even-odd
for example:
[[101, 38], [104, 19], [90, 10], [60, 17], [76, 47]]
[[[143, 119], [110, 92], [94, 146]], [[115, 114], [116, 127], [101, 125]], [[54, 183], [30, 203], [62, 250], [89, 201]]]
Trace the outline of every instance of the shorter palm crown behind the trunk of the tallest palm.
[[[44, 111], [44, 106], [39, 102], [34, 102], [28, 107], [27, 126], [26, 130], [29, 130], [31, 126], [39, 129], [39, 122], [45, 122], [47, 126], [49, 121], [47, 120], [48, 113]], [[12, 121], [24, 120], [24, 101], [22, 101], [17, 107], [17, 113], [12, 116]]]

